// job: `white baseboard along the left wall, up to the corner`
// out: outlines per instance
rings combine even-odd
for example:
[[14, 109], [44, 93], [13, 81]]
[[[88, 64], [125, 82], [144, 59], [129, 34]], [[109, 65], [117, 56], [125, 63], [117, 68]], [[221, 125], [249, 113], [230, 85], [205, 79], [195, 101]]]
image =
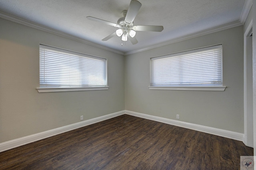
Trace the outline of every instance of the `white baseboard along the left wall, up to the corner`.
[[96, 118], [93, 118], [93, 119], [89, 119], [89, 120], [81, 121], [81, 122], [78, 122], [78, 123], [74, 123], [74, 124], [71, 124], [71, 125], [59, 127], [59, 128], [56, 128], [56, 129], [52, 129], [52, 130], [49, 130], [49, 131], [44, 131], [44, 132], [41, 132], [41, 133], [36, 133], [34, 135], [29, 135], [29, 136], [26, 136], [26, 137], [22, 137], [22, 138], [14, 139], [14, 140], [7, 141], [7, 142], [4, 142], [4, 143], [0, 143], [0, 152], [3, 152], [5, 150], [9, 150], [9, 149], [12, 149], [12, 148], [16, 148], [16, 147], [19, 147], [19, 146], [22, 146], [22, 145], [26, 145], [28, 143], [32, 143], [32, 142], [35, 142], [35, 141], [39, 141], [41, 139], [45, 139], [45, 138], [48, 138], [48, 137], [51, 137], [51, 136], [54, 136], [54, 135], [58, 135], [60, 133], [64, 133], [64, 132], [67, 132], [67, 131], [78, 129], [80, 127], [91, 125], [93, 123], [104, 121], [104, 120], [107, 120], [107, 119], [110, 119], [110, 118], [113, 118], [113, 117], [116, 117], [116, 116], [119, 116], [119, 115], [123, 115], [123, 114], [125, 114], [125, 111], [118, 111], [116, 113], [111, 113], [111, 114], [108, 114], [108, 115], [104, 115], [104, 116], [96, 117]]

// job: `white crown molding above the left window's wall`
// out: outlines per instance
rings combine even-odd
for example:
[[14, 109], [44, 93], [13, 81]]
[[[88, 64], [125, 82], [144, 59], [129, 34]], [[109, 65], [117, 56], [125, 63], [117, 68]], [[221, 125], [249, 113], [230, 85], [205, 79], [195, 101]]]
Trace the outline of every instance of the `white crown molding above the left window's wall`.
[[76, 37], [76, 36], [73, 36], [73, 35], [70, 35], [70, 34], [67, 34], [67, 33], [64, 33], [62, 31], [58, 31], [56, 29], [51, 29], [49, 27], [45, 27], [43, 25], [39, 25], [39, 24], [36, 24], [36, 23], [33, 23], [33, 22], [30, 22], [30, 21], [27, 21], [27, 20], [24, 20], [24, 19], [21, 19], [21, 18], [18, 18], [18, 17], [15, 17], [15, 16], [11, 16], [9, 14], [6, 14], [6, 13], [3, 13], [3, 12], [0, 12], [0, 18], [3, 18], [5, 20], [9, 20], [9, 21], [13, 21], [13, 22], [16, 22], [16, 23], [20, 23], [22, 25], [26, 25], [28, 27], [32, 27], [32, 28], [35, 28], [35, 29], [39, 29], [41, 31], [45, 31], [45, 32], [48, 32], [48, 33], [52, 33], [54, 35], [58, 35], [60, 37], [64, 37], [64, 38], [67, 38], [67, 39], [71, 39], [71, 40], [74, 40], [74, 41], [78, 41], [80, 43], [84, 43], [84, 44], [87, 44], [87, 45], [91, 45], [93, 47], [98, 47], [100, 49], [104, 49], [104, 50], [108, 50], [108, 51], [111, 51], [111, 52], [114, 52], [114, 53], [117, 53], [117, 54], [121, 54], [121, 55], [124, 55], [124, 53], [122, 51], [117, 51], [117, 50], [114, 50], [114, 49], [110, 49], [110, 48], [107, 48], [107, 47], [104, 47], [104, 46], [101, 46], [101, 45], [97, 45], [95, 43], [91, 43], [89, 41], [86, 41], [85, 39], [82, 39], [82, 38], [79, 38], [79, 37]]

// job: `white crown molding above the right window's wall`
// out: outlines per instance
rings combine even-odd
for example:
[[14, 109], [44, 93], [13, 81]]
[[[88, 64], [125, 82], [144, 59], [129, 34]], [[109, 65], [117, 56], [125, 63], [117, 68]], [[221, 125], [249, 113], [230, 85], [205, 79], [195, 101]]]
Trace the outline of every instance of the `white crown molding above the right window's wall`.
[[192, 34], [185, 35], [185, 36], [182, 36], [182, 37], [178, 37], [178, 38], [175, 38], [175, 39], [171, 39], [169, 41], [165, 41], [163, 43], [158, 43], [158, 44], [155, 44], [155, 45], [152, 45], [152, 46], [148, 46], [148, 47], [145, 47], [145, 48], [142, 48], [142, 49], [138, 49], [138, 50], [134, 50], [134, 51], [129, 51], [127, 53], [124, 53], [124, 55], [130, 55], [130, 54], [134, 54], [134, 53], [139, 53], [139, 52], [146, 51], [146, 50], [149, 50], [149, 49], [154, 49], [154, 48], [157, 48], [157, 47], [162, 47], [164, 45], [170, 45], [172, 43], [177, 43], [177, 42], [188, 40], [188, 39], [192, 39], [192, 38], [195, 38], [195, 37], [200, 37], [202, 35], [207, 35], [207, 34], [210, 34], [210, 33], [215, 33], [215, 32], [218, 32], [218, 31], [225, 30], [225, 29], [230, 29], [230, 28], [233, 28], [233, 27], [237, 27], [237, 26], [240, 26], [240, 25], [243, 25], [243, 23], [241, 23], [240, 21], [228, 23], [228, 24], [221, 25], [221, 26], [218, 26], [218, 27], [214, 27], [214, 28], [211, 28], [211, 29], [207, 29], [207, 30], [204, 30], [204, 31], [200, 31], [200, 32], [192, 33]]

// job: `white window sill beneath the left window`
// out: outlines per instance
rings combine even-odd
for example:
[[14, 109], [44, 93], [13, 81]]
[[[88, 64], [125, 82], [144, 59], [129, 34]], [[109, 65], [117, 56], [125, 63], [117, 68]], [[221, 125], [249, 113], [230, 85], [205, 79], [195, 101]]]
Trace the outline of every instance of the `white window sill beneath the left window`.
[[39, 87], [36, 88], [39, 93], [48, 93], [48, 92], [75, 92], [75, 91], [87, 91], [87, 90], [108, 90], [106, 87], [76, 87], [76, 88], [61, 88], [61, 87]]

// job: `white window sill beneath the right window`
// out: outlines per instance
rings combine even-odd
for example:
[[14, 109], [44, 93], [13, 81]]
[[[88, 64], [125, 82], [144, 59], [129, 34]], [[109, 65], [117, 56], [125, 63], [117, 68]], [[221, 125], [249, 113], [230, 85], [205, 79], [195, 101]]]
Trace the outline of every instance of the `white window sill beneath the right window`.
[[191, 90], [191, 91], [224, 91], [226, 86], [201, 86], [201, 87], [155, 87], [149, 86], [150, 90]]

